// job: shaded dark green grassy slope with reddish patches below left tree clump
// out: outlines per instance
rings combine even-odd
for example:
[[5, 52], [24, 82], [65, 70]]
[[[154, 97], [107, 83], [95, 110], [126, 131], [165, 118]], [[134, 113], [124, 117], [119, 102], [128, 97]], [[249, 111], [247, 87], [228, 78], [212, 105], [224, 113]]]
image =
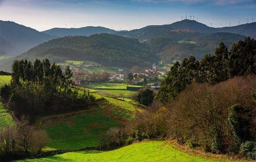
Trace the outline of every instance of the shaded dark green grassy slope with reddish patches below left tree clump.
[[81, 149], [100, 146], [100, 135], [119, 123], [102, 109], [80, 111], [42, 119], [39, 126], [46, 130], [50, 142], [46, 149]]

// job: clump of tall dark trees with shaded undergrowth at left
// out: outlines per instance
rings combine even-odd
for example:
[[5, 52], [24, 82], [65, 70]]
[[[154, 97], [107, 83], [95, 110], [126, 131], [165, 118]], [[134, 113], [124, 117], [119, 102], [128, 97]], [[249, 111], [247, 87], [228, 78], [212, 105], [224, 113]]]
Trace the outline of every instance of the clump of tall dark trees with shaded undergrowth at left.
[[62, 73], [48, 59], [42, 62], [36, 59], [34, 64], [27, 60], [14, 61], [11, 84], [1, 88], [1, 99], [18, 119], [24, 115], [30, 121], [38, 115], [86, 107], [94, 97], [88, 93], [79, 99], [71, 77], [68, 66]]

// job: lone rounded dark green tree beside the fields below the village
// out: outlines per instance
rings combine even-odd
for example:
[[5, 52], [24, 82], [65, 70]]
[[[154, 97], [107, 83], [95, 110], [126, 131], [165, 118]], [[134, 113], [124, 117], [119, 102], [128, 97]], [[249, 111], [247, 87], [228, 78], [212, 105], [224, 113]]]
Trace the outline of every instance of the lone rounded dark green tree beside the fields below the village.
[[154, 100], [154, 91], [151, 89], [139, 90], [136, 100], [142, 105], [149, 106]]

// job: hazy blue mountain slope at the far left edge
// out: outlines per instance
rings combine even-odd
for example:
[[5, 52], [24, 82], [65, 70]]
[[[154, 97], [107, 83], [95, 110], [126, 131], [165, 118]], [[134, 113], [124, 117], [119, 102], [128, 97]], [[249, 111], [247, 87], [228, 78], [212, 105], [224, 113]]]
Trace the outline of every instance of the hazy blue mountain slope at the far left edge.
[[19, 55], [53, 38], [56, 36], [14, 22], [0, 20], [0, 55]]

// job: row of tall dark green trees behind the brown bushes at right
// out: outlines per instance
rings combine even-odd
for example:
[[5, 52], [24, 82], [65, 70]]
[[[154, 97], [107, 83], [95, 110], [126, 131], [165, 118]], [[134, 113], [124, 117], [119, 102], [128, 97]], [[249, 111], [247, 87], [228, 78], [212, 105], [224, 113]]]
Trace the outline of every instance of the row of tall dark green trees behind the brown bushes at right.
[[256, 74], [256, 40], [246, 38], [233, 44], [232, 49], [220, 43], [214, 55], [205, 55], [199, 61], [195, 57], [175, 63], [162, 81], [156, 98], [162, 102], [174, 99], [191, 82], [216, 84], [234, 76]]

